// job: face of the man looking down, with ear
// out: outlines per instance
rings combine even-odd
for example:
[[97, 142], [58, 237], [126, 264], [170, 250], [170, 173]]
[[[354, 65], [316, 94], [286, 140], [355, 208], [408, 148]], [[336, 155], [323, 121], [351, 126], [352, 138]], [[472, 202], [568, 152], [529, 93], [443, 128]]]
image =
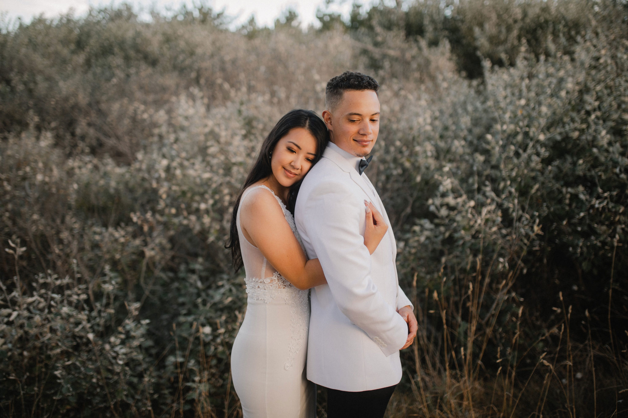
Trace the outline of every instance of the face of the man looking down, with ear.
[[341, 149], [365, 157], [379, 133], [379, 98], [373, 90], [347, 90], [340, 103], [323, 112], [331, 140]]

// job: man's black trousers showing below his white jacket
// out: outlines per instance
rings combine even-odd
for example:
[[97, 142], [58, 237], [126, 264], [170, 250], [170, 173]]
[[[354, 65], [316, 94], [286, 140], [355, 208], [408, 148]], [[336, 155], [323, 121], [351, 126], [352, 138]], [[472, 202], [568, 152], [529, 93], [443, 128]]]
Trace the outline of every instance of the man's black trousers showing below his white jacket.
[[364, 392], [327, 389], [327, 418], [383, 418], [396, 386]]

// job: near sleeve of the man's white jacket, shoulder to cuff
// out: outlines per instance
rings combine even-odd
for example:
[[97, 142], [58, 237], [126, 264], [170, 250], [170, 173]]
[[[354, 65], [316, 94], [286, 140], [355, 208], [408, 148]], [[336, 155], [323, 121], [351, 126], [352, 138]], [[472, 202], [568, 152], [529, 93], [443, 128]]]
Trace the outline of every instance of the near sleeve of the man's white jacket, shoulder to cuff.
[[350, 202], [347, 196], [349, 190], [333, 181], [322, 182], [310, 192], [303, 211], [310, 225], [310, 243], [340, 311], [388, 357], [403, 347], [408, 325], [372, 281], [371, 256], [360, 234], [364, 205]]

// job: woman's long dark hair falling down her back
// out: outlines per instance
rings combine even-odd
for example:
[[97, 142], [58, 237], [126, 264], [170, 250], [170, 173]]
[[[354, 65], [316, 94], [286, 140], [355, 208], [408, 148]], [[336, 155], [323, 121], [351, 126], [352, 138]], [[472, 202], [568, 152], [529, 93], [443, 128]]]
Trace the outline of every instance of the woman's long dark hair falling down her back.
[[[318, 117], [318, 115], [311, 110], [303, 110], [303, 109], [295, 109], [286, 113], [279, 119], [276, 125], [274, 125], [273, 130], [268, 134], [268, 137], [262, 143], [261, 150], [259, 150], [259, 155], [257, 155], [257, 160], [255, 164], [253, 164], [253, 168], [249, 175], [246, 177], [246, 181], [244, 185], [242, 185], [242, 189], [237, 195], [236, 203], [234, 204], [233, 214], [231, 218], [231, 227], [229, 231], [229, 241], [225, 248], [231, 249], [231, 257], [233, 259], [234, 268], [236, 272], [242, 268], [242, 253], [240, 251], [240, 238], [237, 233], [237, 209], [240, 206], [240, 199], [242, 198], [242, 192], [246, 190], [251, 184], [258, 182], [259, 180], [266, 179], [269, 175], [273, 174], [273, 169], [271, 168], [271, 152], [274, 150], [277, 142], [286, 135], [288, 132], [294, 128], [304, 128], [307, 129], [308, 132], [316, 139], [317, 142], [317, 150], [316, 157], [312, 163], [312, 165], [316, 164], [320, 157], [323, 154], [323, 150], [327, 147], [327, 142], [329, 141], [329, 132], [323, 120]], [[290, 187], [290, 191], [288, 192], [288, 210], [290, 212], [295, 211], [295, 203], [296, 196], [299, 192], [299, 187], [301, 187], [301, 179]]]

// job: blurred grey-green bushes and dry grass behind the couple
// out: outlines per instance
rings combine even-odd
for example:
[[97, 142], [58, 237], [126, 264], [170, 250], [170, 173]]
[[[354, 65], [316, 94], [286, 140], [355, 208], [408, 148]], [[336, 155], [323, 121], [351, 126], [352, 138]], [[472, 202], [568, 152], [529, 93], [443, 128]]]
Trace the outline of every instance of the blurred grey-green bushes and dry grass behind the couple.
[[388, 416], [625, 416], [628, 4], [318, 19], [4, 23], [1, 415], [241, 416], [229, 208], [274, 122], [351, 69], [382, 85], [368, 174], [420, 320]]

